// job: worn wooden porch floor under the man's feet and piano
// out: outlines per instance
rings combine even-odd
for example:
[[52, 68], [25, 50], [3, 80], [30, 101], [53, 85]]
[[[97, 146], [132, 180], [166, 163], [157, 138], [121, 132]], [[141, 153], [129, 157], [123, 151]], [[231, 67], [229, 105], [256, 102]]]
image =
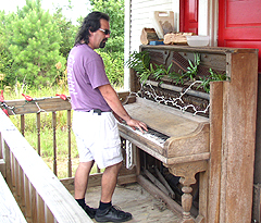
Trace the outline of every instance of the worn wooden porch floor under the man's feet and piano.
[[[86, 202], [92, 208], [99, 206], [100, 189], [100, 186], [96, 186], [87, 190]], [[73, 191], [71, 193], [73, 194]], [[129, 223], [182, 222], [177, 214], [169, 210], [160, 199], [152, 197], [138, 183], [116, 186], [113, 195], [113, 205], [133, 214], [133, 220], [128, 221]], [[96, 221], [94, 220], [94, 222]]]

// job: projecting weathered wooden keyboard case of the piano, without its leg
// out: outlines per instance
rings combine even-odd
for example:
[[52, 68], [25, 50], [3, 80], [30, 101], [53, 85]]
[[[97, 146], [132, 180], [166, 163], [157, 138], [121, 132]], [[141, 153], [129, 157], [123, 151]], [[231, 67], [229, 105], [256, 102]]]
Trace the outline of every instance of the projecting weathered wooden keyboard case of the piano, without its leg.
[[209, 159], [209, 119], [142, 98], [124, 108], [132, 117], [169, 136], [166, 140], [157, 140], [150, 134], [119, 123], [120, 135], [152, 157], [165, 164]]

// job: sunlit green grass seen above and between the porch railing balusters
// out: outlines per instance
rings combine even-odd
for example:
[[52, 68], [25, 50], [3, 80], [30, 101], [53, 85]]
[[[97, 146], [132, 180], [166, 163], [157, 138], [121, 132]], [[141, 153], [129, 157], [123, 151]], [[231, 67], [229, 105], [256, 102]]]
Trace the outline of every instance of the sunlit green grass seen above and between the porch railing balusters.
[[[4, 88], [4, 100], [24, 99], [22, 92], [29, 95], [32, 98], [45, 98], [54, 97], [57, 94], [69, 95], [64, 85], [58, 85], [53, 87], [46, 87], [41, 89], [25, 88], [23, 86], [16, 86], [14, 89]], [[10, 116], [13, 124], [20, 129], [21, 121], [20, 115]], [[52, 129], [52, 113], [41, 112], [41, 126], [40, 126], [40, 156], [47, 165], [53, 171], [53, 129]], [[66, 111], [57, 112], [57, 166], [58, 177], [67, 177], [67, 121]], [[78, 165], [78, 151], [76, 146], [75, 136], [72, 132], [71, 144], [71, 158], [72, 158], [72, 175], [75, 175], [75, 171]], [[25, 138], [37, 150], [37, 127], [36, 127], [36, 114], [25, 114]], [[97, 173], [96, 165], [92, 168], [91, 173]]]

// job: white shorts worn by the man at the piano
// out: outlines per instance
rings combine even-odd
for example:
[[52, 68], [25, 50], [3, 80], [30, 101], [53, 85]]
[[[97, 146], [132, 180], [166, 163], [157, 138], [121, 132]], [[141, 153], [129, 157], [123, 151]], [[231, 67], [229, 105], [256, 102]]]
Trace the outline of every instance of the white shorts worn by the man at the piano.
[[123, 160], [117, 123], [112, 112], [73, 113], [73, 132], [79, 153], [79, 162], [95, 160], [99, 169]]

